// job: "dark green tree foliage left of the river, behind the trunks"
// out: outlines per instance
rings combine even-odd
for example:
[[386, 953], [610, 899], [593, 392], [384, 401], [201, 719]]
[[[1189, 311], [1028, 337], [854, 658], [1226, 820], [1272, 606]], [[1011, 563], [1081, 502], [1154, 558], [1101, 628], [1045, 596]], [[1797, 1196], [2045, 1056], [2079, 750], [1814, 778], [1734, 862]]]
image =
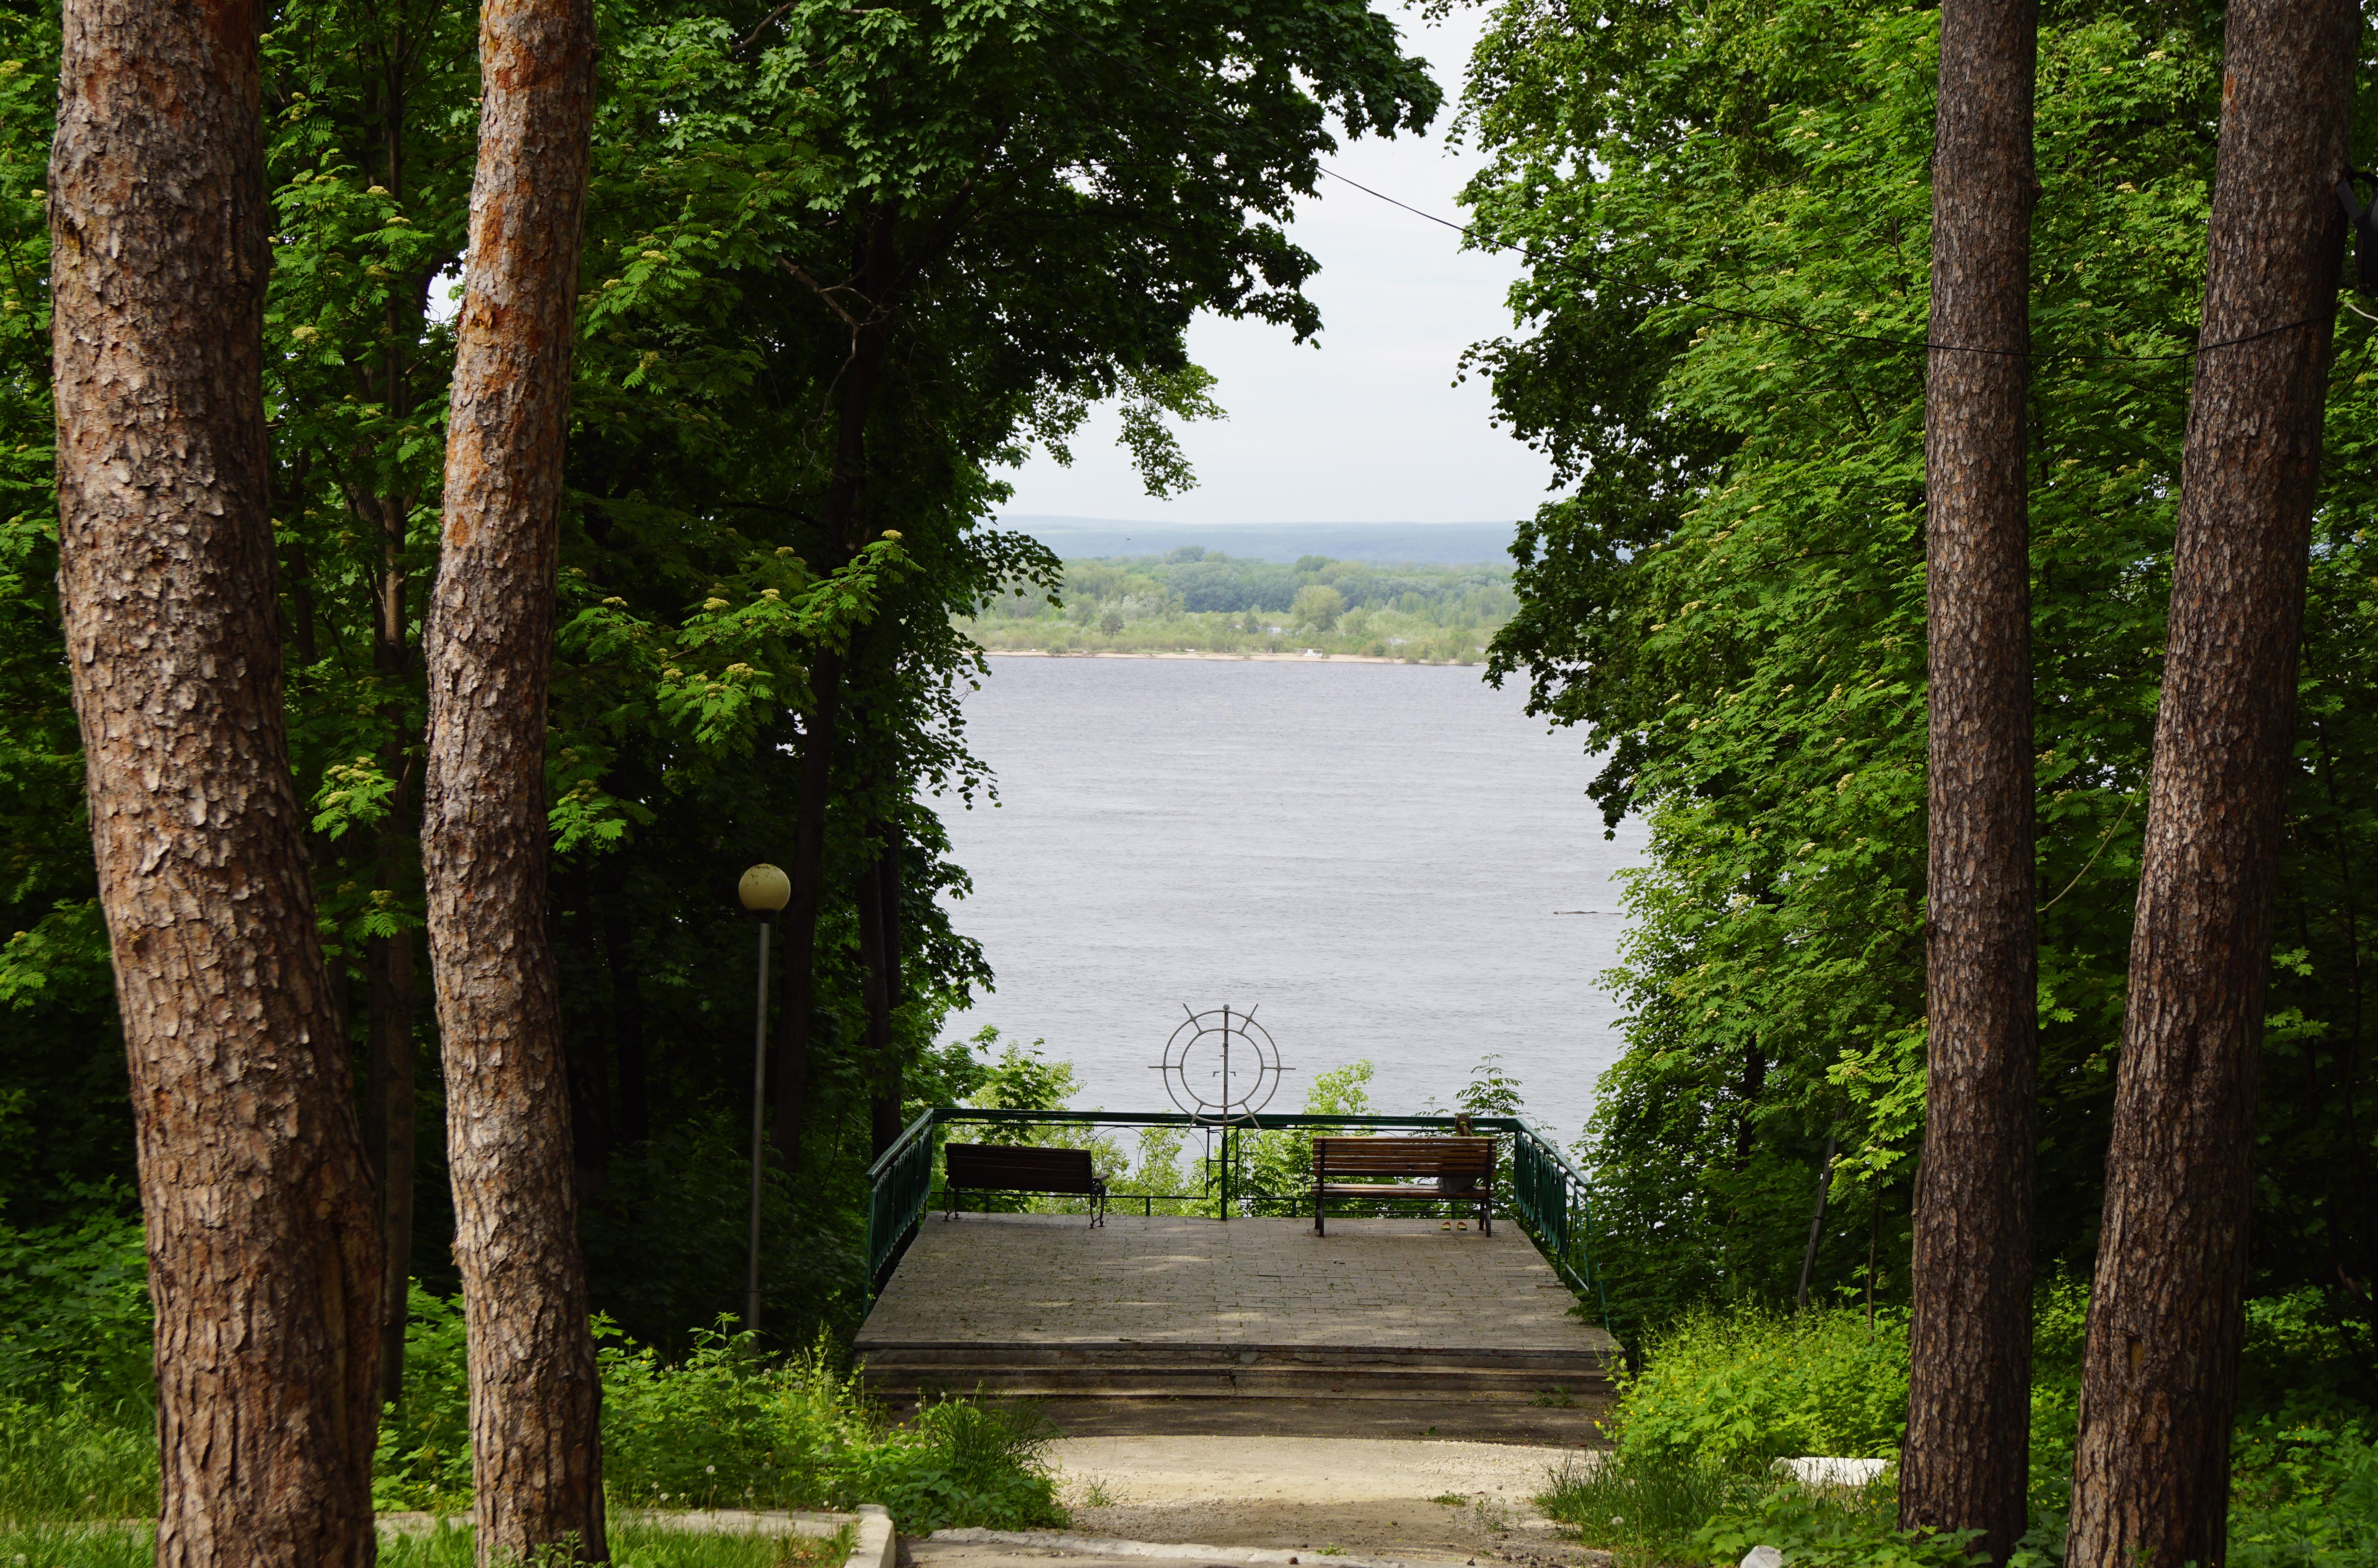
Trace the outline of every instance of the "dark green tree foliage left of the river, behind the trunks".
[[[466, 242], [476, 26], [428, 0], [278, 0], [262, 26], [290, 767], [357, 1081], [373, 1026], [414, 1036], [419, 1221], [397, 1266], [447, 1290], [419, 634], [454, 354], [433, 306]], [[989, 981], [944, 896], [965, 872], [939, 803], [989, 789], [958, 706], [980, 651], [954, 618], [1001, 584], [1058, 584], [1053, 556], [992, 523], [999, 473], [1034, 447], [1070, 456], [1113, 397], [1149, 487], [1187, 487], [1172, 430], [1220, 413], [1189, 323], [1229, 314], [1310, 337], [1296, 202], [1339, 138], [1417, 131], [1441, 93], [1365, 0], [1253, 19], [1218, 0], [901, 14], [606, 0], [602, 36], [545, 770], [583, 1240], [594, 1304], [668, 1354], [740, 1295], [751, 948], [721, 893], [751, 860], [789, 865], [787, 753], [816, 744], [820, 675], [839, 663], [804, 1126], [778, 1128], [801, 1155], [763, 1205], [770, 1323], [801, 1345], [858, 1311], [880, 1062], [851, 889], [887, 829], [894, 1064], [951, 1071], [935, 1060], [942, 1022]], [[0, 1221], [26, 1233], [121, 1214], [133, 1176], [55, 601], [55, 10], [7, 12]], [[861, 316], [885, 340], [870, 385], [847, 373]], [[835, 485], [842, 451], [863, 454], [856, 499]], [[380, 984], [407, 953], [409, 1010], [373, 1019], [407, 1007]]]

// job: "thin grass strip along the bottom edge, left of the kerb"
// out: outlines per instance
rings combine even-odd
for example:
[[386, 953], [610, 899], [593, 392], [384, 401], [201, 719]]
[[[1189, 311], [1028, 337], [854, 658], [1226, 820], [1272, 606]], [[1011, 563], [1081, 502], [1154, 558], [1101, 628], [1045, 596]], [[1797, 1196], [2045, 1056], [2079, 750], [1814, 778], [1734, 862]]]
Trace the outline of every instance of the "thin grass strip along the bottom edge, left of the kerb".
[[[611, 1525], [614, 1568], [830, 1568], [849, 1556], [842, 1537], [678, 1530], [644, 1518]], [[0, 1530], [7, 1568], [147, 1568], [155, 1530], [126, 1523], [48, 1523]], [[383, 1568], [473, 1568], [471, 1525], [440, 1520], [419, 1535], [380, 1537]]]

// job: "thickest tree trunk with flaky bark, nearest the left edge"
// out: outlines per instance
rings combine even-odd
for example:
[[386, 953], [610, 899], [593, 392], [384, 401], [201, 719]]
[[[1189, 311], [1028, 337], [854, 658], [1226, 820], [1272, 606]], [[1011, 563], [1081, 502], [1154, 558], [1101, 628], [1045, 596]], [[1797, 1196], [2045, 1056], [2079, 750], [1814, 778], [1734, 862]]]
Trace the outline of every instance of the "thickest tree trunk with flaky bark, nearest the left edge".
[[67, 0], [59, 599], [157, 1314], [157, 1561], [373, 1561], [380, 1231], [290, 782], [252, 5]]

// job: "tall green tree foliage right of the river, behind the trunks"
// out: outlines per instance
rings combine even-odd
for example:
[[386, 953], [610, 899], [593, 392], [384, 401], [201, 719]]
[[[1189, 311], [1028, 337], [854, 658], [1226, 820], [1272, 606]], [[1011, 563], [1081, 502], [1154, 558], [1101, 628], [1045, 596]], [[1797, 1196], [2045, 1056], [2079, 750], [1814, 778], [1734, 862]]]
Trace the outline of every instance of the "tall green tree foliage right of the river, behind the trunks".
[[[1503, 0], [1472, 62], [1474, 235], [1527, 328], [1472, 352], [1565, 494], [1522, 525], [1491, 675], [1641, 813], [1612, 984], [1627, 1052], [1581, 1145], [1622, 1333], [1817, 1283], [1905, 1300], [1924, 1117], [1924, 311], [1936, 21], [1881, 0]], [[2364, 43], [2368, 48], [2368, 43]], [[2204, 278], [2219, 14], [2040, 17], [2031, 606], [2040, 1243], [2095, 1250]], [[2364, 71], [2364, 83], [2378, 74]], [[2364, 88], [2378, 93], [2378, 86]], [[2368, 114], [2357, 114], [2368, 140]], [[1881, 340], [1881, 342], [1876, 342]], [[2371, 325], [2340, 316], [2281, 867], [2257, 1295], [2368, 1323], [2378, 1076]], [[2378, 1397], [2366, 1340], [2352, 1371]]]

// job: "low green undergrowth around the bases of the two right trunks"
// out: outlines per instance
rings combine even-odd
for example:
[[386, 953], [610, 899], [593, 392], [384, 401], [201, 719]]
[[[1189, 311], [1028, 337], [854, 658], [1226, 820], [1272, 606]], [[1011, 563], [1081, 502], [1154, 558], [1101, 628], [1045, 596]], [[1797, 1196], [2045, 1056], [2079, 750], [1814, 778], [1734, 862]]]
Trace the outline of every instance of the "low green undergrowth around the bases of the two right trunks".
[[[2378, 1414], [2338, 1392], [2276, 1392], [2311, 1364], [2300, 1304], [2250, 1304], [2247, 1406], [2233, 1442], [2228, 1568], [2378, 1568]], [[2033, 1314], [2031, 1523], [2012, 1568], [2064, 1554], [2088, 1292], [2057, 1278]], [[2307, 1342], [2311, 1347], [2307, 1349]], [[2257, 1345], [2261, 1366], [2257, 1366]], [[1907, 1418], [1905, 1316], [1705, 1311], [1650, 1335], [1605, 1421], [1617, 1449], [1572, 1461], [1536, 1499], [1619, 1568], [1738, 1563], [1779, 1547], [1793, 1568], [1962, 1568], [1969, 1537], [1902, 1535], [1898, 1471], [1805, 1487], [1784, 1456], [1898, 1459]]]

